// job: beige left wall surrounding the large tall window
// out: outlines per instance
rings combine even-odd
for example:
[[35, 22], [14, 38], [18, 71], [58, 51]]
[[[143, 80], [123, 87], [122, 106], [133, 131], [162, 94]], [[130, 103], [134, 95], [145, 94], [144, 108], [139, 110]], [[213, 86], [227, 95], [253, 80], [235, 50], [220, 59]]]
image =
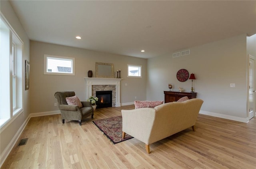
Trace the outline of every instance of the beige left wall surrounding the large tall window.
[[[20, 37], [22, 40], [23, 44], [23, 51], [22, 51], [22, 74], [24, 75], [24, 65], [25, 65], [25, 60], [30, 60], [29, 58], [29, 39], [27, 37], [26, 32], [24, 31], [22, 25], [20, 24], [20, 21], [18, 20], [18, 17], [14, 13], [12, 6], [10, 5], [9, 1], [0, 1], [0, 10], [8, 23], [12, 26], [16, 34]], [[24, 78], [23, 78], [23, 84], [24, 84]], [[23, 85], [24, 86], [24, 85]], [[10, 146], [11, 144], [15, 143], [15, 139], [17, 139], [20, 128], [22, 128], [23, 123], [26, 121], [29, 113], [30, 113], [30, 104], [29, 104], [29, 93], [30, 90], [24, 90], [24, 87], [22, 87], [22, 92], [23, 92], [23, 108], [24, 112], [15, 115], [12, 117], [10, 121], [4, 127], [0, 129], [0, 163], [2, 164], [2, 160], [6, 153], [10, 151]], [[6, 112], [10, 113], [10, 112]], [[8, 155], [8, 154], [7, 154]]]

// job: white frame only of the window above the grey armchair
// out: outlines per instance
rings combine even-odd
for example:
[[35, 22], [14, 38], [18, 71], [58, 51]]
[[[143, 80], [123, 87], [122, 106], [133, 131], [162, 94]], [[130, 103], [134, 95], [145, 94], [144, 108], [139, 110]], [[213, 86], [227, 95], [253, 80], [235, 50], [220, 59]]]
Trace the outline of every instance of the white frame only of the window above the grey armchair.
[[[66, 72], [66, 73], [59, 73], [59, 72], [48, 72], [48, 59], [57, 59], [57, 60], [69, 60], [72, 61], [72, 68], [71, 68], [71, 73]], [[66, 76], [75, 76], [75, 58], [69, 58], [69, 57], [64, 57], [64, 56], [54, 56], [54, 55], [44, 55], [44, 74], [45, 75], [66, 75]]]

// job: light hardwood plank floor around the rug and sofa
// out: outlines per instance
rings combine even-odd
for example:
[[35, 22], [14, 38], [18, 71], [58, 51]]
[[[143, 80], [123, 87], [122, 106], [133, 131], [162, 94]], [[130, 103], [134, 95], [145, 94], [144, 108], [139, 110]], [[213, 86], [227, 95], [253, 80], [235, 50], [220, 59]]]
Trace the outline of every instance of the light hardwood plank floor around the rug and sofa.
[[[121, 115], [134, 105], [96, 109], [94, 119], [66, 120], [59, 115], [32, 117], [2, 169], [256, 169], [256, 119], [249, 123], [199, 115], [192, 128], [150, 145], [133, 138], [112, 145], [92, 123]], [[18, 143], [17, 143], [18, 145]]]

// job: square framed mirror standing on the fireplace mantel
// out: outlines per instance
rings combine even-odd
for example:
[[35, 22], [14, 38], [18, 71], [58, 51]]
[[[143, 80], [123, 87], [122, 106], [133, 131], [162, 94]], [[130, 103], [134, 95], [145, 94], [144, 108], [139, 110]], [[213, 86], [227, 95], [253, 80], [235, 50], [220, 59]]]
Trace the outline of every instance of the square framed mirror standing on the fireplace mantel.
[[114, 64], [95, 63], [96, 78], [114, 78]]

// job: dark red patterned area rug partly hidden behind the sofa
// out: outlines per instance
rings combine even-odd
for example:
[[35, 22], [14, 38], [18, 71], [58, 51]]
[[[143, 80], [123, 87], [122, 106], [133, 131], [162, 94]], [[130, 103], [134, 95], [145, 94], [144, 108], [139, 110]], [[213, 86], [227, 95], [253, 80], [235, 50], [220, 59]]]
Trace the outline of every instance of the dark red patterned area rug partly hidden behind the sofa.
[[111, 117], [107, 119], [92, 121], [102, 131], [102, 133], [111, 141], [116, 144], [133, 137], [126, 134], [125, 139], [122, 139], [122, 115]]

